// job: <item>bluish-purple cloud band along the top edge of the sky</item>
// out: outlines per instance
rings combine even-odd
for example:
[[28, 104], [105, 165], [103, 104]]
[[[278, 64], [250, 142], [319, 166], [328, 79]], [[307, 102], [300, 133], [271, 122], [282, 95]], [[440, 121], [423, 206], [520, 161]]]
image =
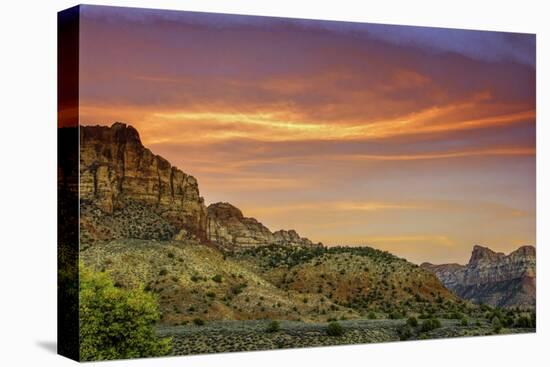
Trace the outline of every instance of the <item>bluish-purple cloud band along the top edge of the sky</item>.
[[82, 14], [85, 19], [139, 25], [168, 23], [173, 27], [190, 25], [226, 31], [319, 32], [363, 42], [377, 39], [401, 47], [453, 52], [480, 61], [512, 61], [532, 68], [536, 63], [534, 34], [86, 5], [82, 6]]

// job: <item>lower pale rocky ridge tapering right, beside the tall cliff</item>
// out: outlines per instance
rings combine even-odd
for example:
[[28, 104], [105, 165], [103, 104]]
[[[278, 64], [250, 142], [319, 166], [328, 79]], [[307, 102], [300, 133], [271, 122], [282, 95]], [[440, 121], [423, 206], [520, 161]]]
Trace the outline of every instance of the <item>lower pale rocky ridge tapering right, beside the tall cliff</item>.
[[256, 219], [243, 216], [238, 208], [229, 203], [208, 206], [207, 237], [211, 242], [231, 250], [267, 245], [316, 246], [294, 230], [272, 233]]

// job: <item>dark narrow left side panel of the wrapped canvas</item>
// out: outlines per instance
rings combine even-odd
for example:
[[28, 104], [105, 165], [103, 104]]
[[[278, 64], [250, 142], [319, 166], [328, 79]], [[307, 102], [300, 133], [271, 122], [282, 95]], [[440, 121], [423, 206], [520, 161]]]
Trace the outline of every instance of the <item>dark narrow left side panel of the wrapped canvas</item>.
[[57, 351], [79, 360], [79, 7], [57, 20]]

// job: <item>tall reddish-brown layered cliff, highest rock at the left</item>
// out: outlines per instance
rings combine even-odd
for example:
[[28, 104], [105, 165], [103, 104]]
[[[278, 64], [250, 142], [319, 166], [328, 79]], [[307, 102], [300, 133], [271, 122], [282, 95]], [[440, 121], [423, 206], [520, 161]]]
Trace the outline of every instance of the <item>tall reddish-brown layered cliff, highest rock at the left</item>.
[[[117, 213], [137, 205], [146, 214], [143, 221], [159, 224], [164, 237], [184, 230], [206, 239], [206, 206], [197, 180], [145, 148], [137, 130], [123, 123], [80, 127], [80, 199], [84, 230], [91, 237], [118, 237]], [[101, 225], [87, 216], [97, 209]], [[155, 236], [155, 230], [132, 233]]]

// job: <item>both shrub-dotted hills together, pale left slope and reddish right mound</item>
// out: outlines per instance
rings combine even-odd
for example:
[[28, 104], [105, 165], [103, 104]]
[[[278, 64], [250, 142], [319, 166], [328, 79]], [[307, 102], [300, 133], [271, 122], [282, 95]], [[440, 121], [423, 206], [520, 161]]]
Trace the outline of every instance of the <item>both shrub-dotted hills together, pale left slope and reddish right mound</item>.
[[164, 324], [197, 318], [318, 322], [457, 305], [431, 273], [369, 248], [270, 246], [224, 255], [191, 241], [116, 240], [81, 255], [86, 264], [110, 271], [119, 286], [156, 293]]

